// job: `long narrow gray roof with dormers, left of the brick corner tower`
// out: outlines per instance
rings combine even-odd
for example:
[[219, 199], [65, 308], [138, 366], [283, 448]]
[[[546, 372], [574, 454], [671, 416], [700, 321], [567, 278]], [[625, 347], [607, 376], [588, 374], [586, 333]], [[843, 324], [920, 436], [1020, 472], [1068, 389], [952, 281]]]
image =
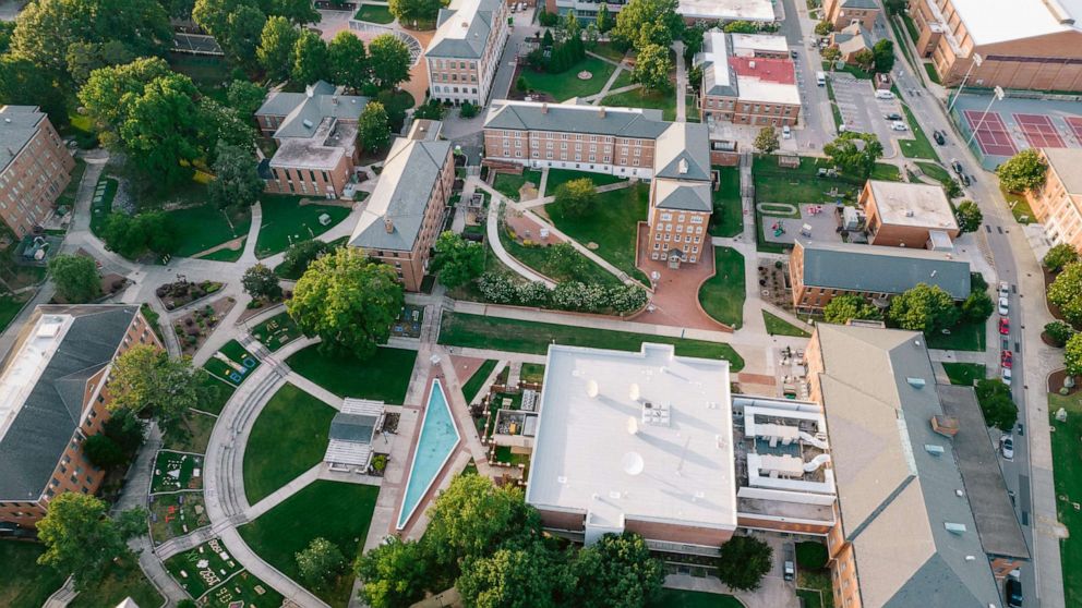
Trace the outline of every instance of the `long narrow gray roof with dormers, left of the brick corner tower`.
[[610, 108], [602, 117], [601, 108], [592, 106], [506, 100], [493, 101], [492, 106], [484, 122], [485, 129], [558, 131], [656, 139], [670, 124], [661, 120], [661, 110], [628, 112]]

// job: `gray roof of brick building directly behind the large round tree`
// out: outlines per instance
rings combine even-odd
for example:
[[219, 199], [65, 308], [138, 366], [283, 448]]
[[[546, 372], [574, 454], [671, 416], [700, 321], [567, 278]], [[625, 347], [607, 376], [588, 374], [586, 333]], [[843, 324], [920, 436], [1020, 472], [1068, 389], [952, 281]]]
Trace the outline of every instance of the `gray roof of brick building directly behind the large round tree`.
[[[349, 245], [365, 250], [408, 252], [421, 231], [440, 169], [450, 153], [450, 142], [395, 139], [380, 173], [380, 182], [349, 238]], [[449, 161], [448, 161], [449, 162]], [[392, 230], [386, 229], [390, 220]]]

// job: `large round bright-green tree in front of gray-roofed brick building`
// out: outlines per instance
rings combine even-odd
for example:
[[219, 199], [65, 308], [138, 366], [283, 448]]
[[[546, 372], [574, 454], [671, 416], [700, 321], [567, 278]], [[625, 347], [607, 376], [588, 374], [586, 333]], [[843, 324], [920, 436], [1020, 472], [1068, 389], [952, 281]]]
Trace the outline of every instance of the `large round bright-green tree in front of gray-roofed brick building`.
[[312, 262], [286, 303], [305, 336], [323, 339], [321, 348], [361, 360], [387, 341], [401, 307], [402, 287], [395, 270], [351, 247]]

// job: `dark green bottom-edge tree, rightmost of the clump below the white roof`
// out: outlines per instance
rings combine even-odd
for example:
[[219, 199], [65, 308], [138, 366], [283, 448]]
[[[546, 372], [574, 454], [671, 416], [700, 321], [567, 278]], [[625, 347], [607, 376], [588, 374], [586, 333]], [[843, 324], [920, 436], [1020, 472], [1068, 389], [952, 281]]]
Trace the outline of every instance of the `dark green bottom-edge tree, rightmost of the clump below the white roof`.
[[664, 582], [664, 566], [633, 532], [605, 534], [582, 548], [572, 564], [578, 579], [573, 601], [584, 607], [652, 606]]

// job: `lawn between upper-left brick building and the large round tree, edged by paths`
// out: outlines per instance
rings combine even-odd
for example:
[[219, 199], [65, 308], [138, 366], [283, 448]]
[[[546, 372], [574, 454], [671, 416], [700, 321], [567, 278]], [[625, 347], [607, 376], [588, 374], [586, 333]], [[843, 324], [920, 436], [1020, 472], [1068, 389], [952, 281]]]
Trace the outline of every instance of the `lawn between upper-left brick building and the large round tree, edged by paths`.
[[[349, 216], [349, 207], [337, 205], [301, 205], [301, 200], [317, 200], [304, 196], [263, 195], [263, 223], [255, 241], [255, 255], [263, 258], [286, 251], [290, 244], [315, 239]], [[320, 217], [330, 221], [324, 226]]]

